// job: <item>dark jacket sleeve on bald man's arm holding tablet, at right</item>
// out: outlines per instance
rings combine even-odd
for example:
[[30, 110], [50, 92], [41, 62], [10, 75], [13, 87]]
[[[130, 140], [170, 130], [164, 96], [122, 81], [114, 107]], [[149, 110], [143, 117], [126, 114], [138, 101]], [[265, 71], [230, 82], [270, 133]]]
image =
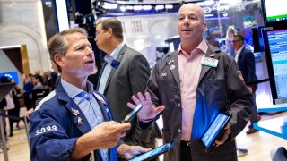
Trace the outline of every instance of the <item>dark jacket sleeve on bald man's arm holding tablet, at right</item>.
[[252, 95], [248, 91], [239, 67], [234, 60], [231, 60], [225, 75], [227, 94], [229, 97], [229, 113], [232, 114], [230, 120], [231, 138], [236, 137], [248, 123], [249, 116], [252, 112]]

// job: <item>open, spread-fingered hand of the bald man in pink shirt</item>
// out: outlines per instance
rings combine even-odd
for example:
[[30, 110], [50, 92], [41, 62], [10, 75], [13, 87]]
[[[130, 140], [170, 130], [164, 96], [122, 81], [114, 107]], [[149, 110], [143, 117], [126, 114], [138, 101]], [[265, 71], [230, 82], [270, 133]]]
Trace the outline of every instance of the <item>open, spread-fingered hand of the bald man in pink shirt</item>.
[[[152, 105], [152, 99], [150, 93], [146, 92], [143, 94], [141, 92], [137, 93], [137, 97], [132, 97], [135, 105], [142, 104], [142, 109], [137, 113], [137, 117], [141, 121], [152, 120], [156, 115], [160, 114], [164, 110], [164, 106], [155, 107]], [[135, 109], [135, 106], [132, 103], [127, 103], [127, 106]]]

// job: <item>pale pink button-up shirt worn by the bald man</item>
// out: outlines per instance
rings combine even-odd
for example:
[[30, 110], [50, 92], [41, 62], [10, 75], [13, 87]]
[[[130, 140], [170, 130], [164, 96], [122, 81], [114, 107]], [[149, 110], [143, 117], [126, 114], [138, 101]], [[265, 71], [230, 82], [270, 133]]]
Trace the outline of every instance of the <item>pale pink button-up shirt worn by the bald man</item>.
[[190, 55], [178, 48], [178, 71], [180, 81], [180, 95], [182, 107], [182, 137], [181, 140], [190, 140], [192, 123], [196, 108], [196, 88], [202, 68], [201, 59], [207, 51], [205, 40], [193, 50]]

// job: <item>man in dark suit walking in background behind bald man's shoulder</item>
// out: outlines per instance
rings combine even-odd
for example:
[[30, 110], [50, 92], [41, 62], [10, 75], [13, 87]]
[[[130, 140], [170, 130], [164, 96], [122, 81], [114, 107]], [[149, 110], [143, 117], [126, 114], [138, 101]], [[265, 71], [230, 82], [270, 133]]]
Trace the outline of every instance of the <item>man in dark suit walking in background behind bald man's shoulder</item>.
[[235, 49], [234, 59], [239, 65], [245, 84], [254, 97], [254, 106], [250, 116], [251, 125], [247, 131], [247, 134], [251, 134], [257, 132], [257, 130], [253, 128], [252, 124], [257, 123], [258, 120], [260, 120], [260, 116], [257, 115], [257, 105], [255, 101], [255, 91], [257, 89], [257, 84], [255, 83], [257, 81], [255, 59], [253, 53], [244, 46], [244, 37], [242, 35], [233, 36], [232, 46]]

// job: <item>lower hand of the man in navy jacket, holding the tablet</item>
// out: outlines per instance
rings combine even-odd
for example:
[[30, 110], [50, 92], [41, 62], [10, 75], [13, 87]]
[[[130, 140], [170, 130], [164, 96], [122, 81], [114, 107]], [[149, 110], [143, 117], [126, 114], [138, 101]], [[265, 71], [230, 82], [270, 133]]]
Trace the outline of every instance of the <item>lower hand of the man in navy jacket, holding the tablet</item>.
[[126, 144], [122, 144], [117, 148], [117, 154], [119, 157], [130, 159], [150, 150], [151, 148], [143, 148], [140, 146], [129, 146]]

